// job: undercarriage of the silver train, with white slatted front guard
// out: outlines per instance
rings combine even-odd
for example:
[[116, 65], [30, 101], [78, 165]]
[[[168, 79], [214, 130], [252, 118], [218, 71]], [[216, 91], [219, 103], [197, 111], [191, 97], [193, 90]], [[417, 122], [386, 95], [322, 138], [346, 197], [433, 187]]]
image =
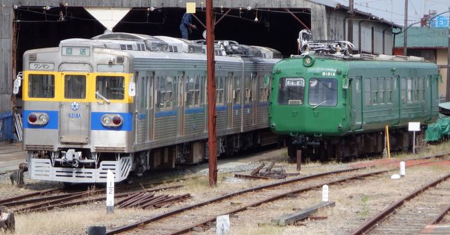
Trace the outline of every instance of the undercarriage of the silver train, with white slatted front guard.
[[[134, 153], [93, 152], [66, 148], [59, 151], [28, 150], [32, 178], [61, 182], [106, 182], [107, 171], [116, 182], [131, 181], [146, 171], [173, 169], [178, 165], [199, 164], [208, 160], [207, 140], [196, 140]], [[269, 130], [249, 131], [217, 138], [217, 156], [233, 156], [246, 149], [276, 144], [278, 135]]]

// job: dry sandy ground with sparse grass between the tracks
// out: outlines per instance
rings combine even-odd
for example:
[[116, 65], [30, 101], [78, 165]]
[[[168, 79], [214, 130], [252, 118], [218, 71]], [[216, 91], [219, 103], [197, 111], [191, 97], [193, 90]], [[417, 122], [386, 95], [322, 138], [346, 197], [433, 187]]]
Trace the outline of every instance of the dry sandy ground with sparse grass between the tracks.
[[[429, 146], [426, 151], [415, 156], [411, 154], [394, 154], [391, 160], [382, 158], [361, 162], [364, 162], [362, 164], [377, 167], [379, 162], [389, 161], [393, 162], [393, 164], [398, 164], [399, 160], [417, 158], [424, 155], [449, 153], [449, 151], [450, 144], [447, 142]], [[116, 208], [114, 214], [106, 214], [105, 202], [55, 209], [50, 212], [19, 214], [15, 216], [16, 234], [86, 234], [87, 227], [93, 225], [105, 225], [111, 228], [135, 223], [150, 216], [168, 212], [184, 205], [198, 203], [231, 191], [276, 182], [277, 180], [238, 180], [237, 182], [229, 182], [226, 180], [227, 177], [233, 176], [233, 173], [230, 172], [233, 168], [236, 171], [249, 173], [249, 169], [254, 169], [260, 162], [265, 162], [268, 165], [271, 160], [277, 161], [275, 167], [282, 167], [287, 172], [296, 172], [296, 164], [287, 162], [286, 149], [264, 151], [246, 156], [245, 158], [227, 158], [225, 160], [219, 160], [219, 169], [222, 166], [223, 171], [219, 171], [219, 183], [213, 189], [208, 187], [208, 178], [205, 175], [205, 172], [207, 172], [205, 169], [208, 167], [207, 164], [189, 167], [182, 171], [164, 173], [165, 176], [154, 177], [154, 180], [157, 181], [159, 179], [199, 176], [198, 178], [181, 182], [183, 187], [180, 189], [170, 189], [158, 193], [170, 195], [190, 193], [192, 198], [185, 202], [175, 203], [171, 207], [162, 209]], [[347, 167], [357, 167], [361, 165], [361, 162], [329, 162], [327, 164], [307, 162], [303, 164], [300, 176]], [[350, 185], [332, 185], [330, 186], [330, 200], [334, 200], [336, 206], [323, 209], [317, 213], [318, 216], [327, 216], [327, 219], [305, 220], [295, 226], [278, 227], [270, 225], [269, 222], [277, 216], [292, 213], [293, 209], [309, 207], [320, 202], [321, 191], [309, 191], [305, 194], [298, 194], [296, 198], [276, 200], [273, 203], [254, 207], [237, 213], [235, 216], [231, 216], [231, 234], [348, 234], [353, 229], [359, 227], [364, 220], [375, 215], [381, 209], [384, 209], [384, 207], [387, 207], [389, 203], [408, 194], [409, 191], [420, 187], [420, 185], [424, 185], [433, 178], [442, 176], [444, 173], [449, 173], [449, 171], [450, 167], [448, 165], [429, 164], [420, 167], [407, 167], [406, 177], [400, 180], [391, 180], [390, 175], [392, 173], [388, 173], [373, 176], [366, 180], [354, 180]], [[175, 184], [179, 184], [179, 182], [161, 186]], [[26, 194], [36, 189], [45, 189], [58, 185], [62, 186], [58, 183], [29, 180], [26, 177], [26, 186], [24, 188], [17, 188], [10, 185], [9, 178], [0, 176], [0, 198], [9, 198], [11, 196]], [[197, 232], [192, 233], [196, 234]], [[215, 234], [215, 229], [209, 229], [204, 234]]]

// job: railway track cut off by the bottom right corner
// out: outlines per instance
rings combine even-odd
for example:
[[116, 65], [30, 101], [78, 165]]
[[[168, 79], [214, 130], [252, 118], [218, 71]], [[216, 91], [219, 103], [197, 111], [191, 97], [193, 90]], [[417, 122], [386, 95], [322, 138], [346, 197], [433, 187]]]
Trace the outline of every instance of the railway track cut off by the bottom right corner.
[[401, 198], [352, 234], [419, 234], [449, 210], [450, 173]]

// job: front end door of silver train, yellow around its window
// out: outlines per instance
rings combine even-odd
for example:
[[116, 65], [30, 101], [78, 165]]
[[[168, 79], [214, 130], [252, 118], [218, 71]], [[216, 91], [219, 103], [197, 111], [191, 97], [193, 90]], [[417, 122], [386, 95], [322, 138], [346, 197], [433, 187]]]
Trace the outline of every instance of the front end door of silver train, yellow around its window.
[[87, 102], [89, 73], [62, 73], [64, 100], [60, 105], [60, 141], [86, 144], [89, 142], [91, 106]]

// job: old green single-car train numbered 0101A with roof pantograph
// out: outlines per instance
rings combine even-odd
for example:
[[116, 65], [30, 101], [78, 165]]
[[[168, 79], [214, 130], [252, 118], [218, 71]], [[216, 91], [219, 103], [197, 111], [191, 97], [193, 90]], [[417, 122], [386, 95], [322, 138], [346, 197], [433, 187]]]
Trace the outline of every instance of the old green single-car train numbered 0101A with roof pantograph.
[[[438, 118], [438, 66], [418, 57], [301, 55], [273, 67], [269, 125], [288, 137], [288, 154], [343, 160], [411, 149], [408, 122]], [[416, 60], [416, 61], [413, 61]]]

